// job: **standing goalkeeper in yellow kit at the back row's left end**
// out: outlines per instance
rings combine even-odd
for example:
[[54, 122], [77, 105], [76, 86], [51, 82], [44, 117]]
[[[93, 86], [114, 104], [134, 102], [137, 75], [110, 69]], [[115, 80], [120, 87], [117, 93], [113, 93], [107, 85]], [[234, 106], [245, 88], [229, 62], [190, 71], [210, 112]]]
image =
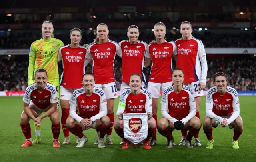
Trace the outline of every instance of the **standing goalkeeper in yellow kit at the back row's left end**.
[[[28, 66], [28, 85], [33, 84], [34, 73], [37, 69], [43, 68], [47, 71], [48, 82], [53, 84], [59, 94], [59, 72], [57, 66], [58, 50], [64, 46], [61, 40], [53, 38], [53, 25], [50, 21], [44, 21], [42, 24], [42, 38], [31, 44], [29, 52]], [[41, 128], [35, 125], [36, 137], [33, 144], [38, 144], [41, 141]]]

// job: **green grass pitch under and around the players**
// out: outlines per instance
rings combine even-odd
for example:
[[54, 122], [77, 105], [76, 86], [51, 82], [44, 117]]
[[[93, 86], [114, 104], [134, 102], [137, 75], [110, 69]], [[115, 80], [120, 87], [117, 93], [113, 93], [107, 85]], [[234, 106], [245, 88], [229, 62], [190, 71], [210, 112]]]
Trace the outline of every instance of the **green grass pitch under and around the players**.
[[[94, 145], [96, 140], [95, 130], [84, 132], [88, 142], [84, 148], [76, 148], [76, 137], [70, 133], [70, 144], [63, 145], [63, 132], [60, 133], [60, 148], [52, 147], [52, 131], [50, 119], [42, 121], [42, 143], [32, 147], [20, 147], [24, 142], [24, 135], [20, 129], [20, 115], [22, 97], [0, 97], [0, 162], [252, 162], [256, 161], [256, 100], [255, 96], [240, 96], [240, 115], [244, 121], [244, 132], [239, 138], [238, 150], [232, 149], [231, 140], [233, 130], [218, 126], [214, 128], [214, 149], [207, 150], [207, 139], [200, 130], [199, 139], [201, 147], [188, 149], [185, 146], [166, 148], [166, 138], [157, 134], [158, 144], [152, 149], [145, 150], [143, 147], [122, 150], [119, 144], [121, 138], [116, 132], [112, 132], [113, 145], [106, 145], [100, 149]], [[114, 112], [116, 112], [118, 98], [115, 100]], [[116, 116], [116, 115], [115, 115]], [[205, 97], [202, 97], [200, 106], [201, 121], [205, 116]], [[158, 106], [158, 119], [161, 117], [160, 104]], [[30, 121], [32, 138], [34, 138], [34, 122]], [[180, 142], [180, 131], [174, 130], [173, 136], [176, 145]]]

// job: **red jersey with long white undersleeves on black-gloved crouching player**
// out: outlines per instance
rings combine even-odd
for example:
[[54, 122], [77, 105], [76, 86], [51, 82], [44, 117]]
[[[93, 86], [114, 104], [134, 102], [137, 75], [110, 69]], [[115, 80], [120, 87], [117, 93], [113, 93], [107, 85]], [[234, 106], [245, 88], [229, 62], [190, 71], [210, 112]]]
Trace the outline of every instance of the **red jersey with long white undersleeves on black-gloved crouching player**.
[[178, 94], [174, 91], [174, 86], [167, 88], [163, 93], [161, 105], [162, 116], [172, 123], [182, 121], [186, 124], [196, 115], [194, 94], [188, 86], [183, 86]]

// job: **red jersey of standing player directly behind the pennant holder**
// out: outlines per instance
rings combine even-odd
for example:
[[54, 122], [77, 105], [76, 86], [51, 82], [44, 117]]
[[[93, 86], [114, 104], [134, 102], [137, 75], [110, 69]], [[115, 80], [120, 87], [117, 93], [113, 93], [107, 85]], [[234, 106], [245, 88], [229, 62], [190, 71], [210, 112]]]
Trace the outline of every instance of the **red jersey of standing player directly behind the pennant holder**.
[[129, 40], [123, 40], [119, 43], [122, 50], [122, 81], [129, 82], [132, 74], [137, 73], [145, 76], [142, 72], [144, 66], [144, 54], [148, 44], [138, 41], [136, 44], [130, 44]]

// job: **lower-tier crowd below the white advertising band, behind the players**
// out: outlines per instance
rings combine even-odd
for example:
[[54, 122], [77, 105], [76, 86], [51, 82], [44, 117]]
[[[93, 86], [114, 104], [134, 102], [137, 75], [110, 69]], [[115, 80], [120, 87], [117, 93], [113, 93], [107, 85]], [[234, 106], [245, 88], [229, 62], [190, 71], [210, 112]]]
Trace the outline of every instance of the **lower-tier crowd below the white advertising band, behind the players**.
[[[60, 64], [59, 67], [62, 67]], [[59, 68], [59, 73], [62, 69]], [[0, 91], [24, 91], [27, 87], [28, 60], [19, 56], [10, 59], [8, 56], [0, 59]], [[91, 72], [92, 68], [87, 67], [86, 72]], [[116, 59], [114, 71], [116, 74], [117, 89], [120, 90], [122, 83], [122, 63]], [[213, 76], [216, 72], [223, 71], [229, 77], [228, 84], [236, 90], [256, 90], [256, 61], [255, 59], [234, 59], [232, 57], [210, 60], [208, 59], [208, 81], [205, 90], [214, 86]], [[148, 81], [150, 68], [146, 68], [145, 76]]]

